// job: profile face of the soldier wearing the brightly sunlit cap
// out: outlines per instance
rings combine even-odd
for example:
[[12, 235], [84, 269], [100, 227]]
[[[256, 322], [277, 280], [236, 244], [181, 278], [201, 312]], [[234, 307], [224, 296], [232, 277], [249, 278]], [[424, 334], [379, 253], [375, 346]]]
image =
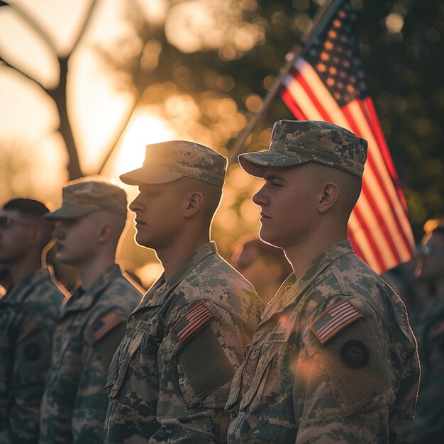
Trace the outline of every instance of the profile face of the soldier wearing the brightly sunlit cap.
[[180, 191], [180, 180], [166, 184], [141, 184], [131, 202], [135, 213], [135, 240], [148, 248], [163, 248], [179, 237], [186, 206]]

